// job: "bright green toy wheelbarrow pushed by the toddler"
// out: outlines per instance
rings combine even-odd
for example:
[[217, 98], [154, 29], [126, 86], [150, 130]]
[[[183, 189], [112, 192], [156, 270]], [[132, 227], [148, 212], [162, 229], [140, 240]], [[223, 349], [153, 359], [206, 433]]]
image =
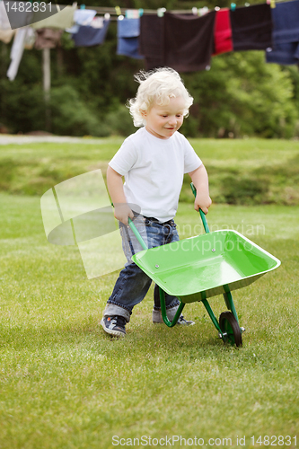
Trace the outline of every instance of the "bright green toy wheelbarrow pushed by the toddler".
[[[194, 195], [196, 189], [191, 183]], [[232, 291], [249, 286], [272, 269], [280, 260], [233, 230], [210, 233], [205, 214], [199, 210], [205, 234], [147, 249], [132, 220], [129, 226], [144, 251], [132, 260], [159, 286], [161, 312], [164, 323], [173, 327], [185, 304], [201, 302], [206, 307], [218, 335], [224, 343], [242, 346], [242, 332], [236, 313]], [[165, 292], [177, 296], [180, 305], [172, 321], [166, 315]], [[227, 311], [216, 319], [208, 297], [224, 295]]]

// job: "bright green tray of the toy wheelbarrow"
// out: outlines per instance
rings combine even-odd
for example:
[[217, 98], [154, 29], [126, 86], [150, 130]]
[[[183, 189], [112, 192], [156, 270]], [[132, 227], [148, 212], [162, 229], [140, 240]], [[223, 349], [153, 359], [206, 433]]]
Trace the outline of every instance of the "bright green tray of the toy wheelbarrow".
[[132, 260], [182, 303], [248, 286], [280, 260], [233, 230], [215, 231], [136, 253]]

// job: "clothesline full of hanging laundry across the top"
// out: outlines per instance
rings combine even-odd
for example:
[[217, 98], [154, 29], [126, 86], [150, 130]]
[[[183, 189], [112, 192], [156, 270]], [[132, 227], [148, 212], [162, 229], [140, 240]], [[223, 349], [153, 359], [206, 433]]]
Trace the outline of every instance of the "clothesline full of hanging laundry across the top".
[[[20, 63], [30, 31], [38, 49], [55, 48], [64, 30], [72, 35], [75, 47], [101, 45], [111, 20], [110, 15], [105, 16], [108, 12], [119, 16], [117, 54], [144, 58], [145, 68], [149, 70], [171, 66], [179, 72], [195, 72], [209, 69], [212, 56], [251, 49], [266, 50], [267, 62], [289, 65], [299, 61], [299, 0], [278, 1], [275, 8], [268, 3], [240, 7], [231, 4], [231, 8], [215, 7], [210, 11], [206, 8], [203, 15], [195, 14], [194, 10], [193, 14], [176, 14], [166, 12], [165, 8], [154, 13], [145, 13], [154, 10], [142, 10], [138, 15], [141, 10], [126, 9], [126, 13], [135, 12], [134, 17], [126, 14], [126, 18], [121, 14], [125, 10], [118, 6], [82, 5], [79, 9], [76, 3], [62, 6], [60, 13], [40, 22], [31, 18], [31, 27], [20, 28], [11, 51], [13, 68], [10, 66], [7, 73], [11, 80], [16, 75], [14, 67]], [[95, 17], [97, 13], [104, 16]]]

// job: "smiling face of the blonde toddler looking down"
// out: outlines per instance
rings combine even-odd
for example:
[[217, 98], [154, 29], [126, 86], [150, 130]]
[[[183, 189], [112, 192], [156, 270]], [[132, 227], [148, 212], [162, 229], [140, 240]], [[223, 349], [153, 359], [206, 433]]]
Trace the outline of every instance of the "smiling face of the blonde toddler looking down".
[[168, 139], [181, 127], [184, 110], [182, 97], [171, 98], [165, 106], [154, 103], [150, 110], [143, 111], [145, 129], [155, 137]]

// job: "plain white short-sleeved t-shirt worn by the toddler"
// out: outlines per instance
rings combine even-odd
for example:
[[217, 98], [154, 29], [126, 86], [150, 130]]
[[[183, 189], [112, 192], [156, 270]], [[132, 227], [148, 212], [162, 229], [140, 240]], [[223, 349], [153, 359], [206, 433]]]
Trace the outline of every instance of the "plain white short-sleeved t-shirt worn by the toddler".
[[109, 165], [125, 176], [128, 203], [137, 205], [143, 216], [163, 223], [176, 214], [184, 173], [193, 172], [201, 163], [178, 131], [160, 139], [140, 128], [128, 136]]

